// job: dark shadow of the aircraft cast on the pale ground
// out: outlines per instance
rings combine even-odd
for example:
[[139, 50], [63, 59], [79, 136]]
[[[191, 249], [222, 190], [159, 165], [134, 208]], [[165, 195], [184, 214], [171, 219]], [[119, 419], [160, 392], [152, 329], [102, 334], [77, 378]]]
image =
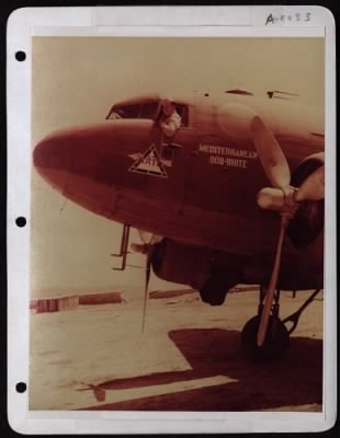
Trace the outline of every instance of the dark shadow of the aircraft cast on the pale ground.
[[170, 338], [192, 370], [162, 372], [102, 383], [122, 390], [226, 376], [219, 385], [93, 407], [114, 411], [257, 411], [322, 403], [322, 341], [293, 337], [286, 356], [252, 364], [241, 356], [240, 333], [219, 328], [177, 330]]

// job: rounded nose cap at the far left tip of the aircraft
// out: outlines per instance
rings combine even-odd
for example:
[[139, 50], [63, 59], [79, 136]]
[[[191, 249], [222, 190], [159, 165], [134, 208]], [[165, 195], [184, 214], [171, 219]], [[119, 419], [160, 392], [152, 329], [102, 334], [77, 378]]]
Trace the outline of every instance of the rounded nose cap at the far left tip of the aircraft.
[[70, 145], [67, 138], [52, 135], [39, 141], [33, 152], [36, 171], [53, 186], [63, 189], [70, 171]]

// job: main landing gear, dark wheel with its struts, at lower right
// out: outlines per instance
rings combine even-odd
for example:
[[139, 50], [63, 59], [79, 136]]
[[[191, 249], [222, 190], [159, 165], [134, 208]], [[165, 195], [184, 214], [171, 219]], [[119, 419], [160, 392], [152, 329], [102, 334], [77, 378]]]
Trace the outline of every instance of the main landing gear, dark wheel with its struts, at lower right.
[[[296, 328], [299, 316], [307, 306], [313, 302], [320, 290], [321, 289], [316, 289], [296, 312], [281, 321], [279, 318], [280, 289], [277, 289], [274, 295], [274, 302], [272, 306], [272, 312], [270, 315], [264, 343], [261, 347], [259, 347], [257, 343], [257, 335], [263, 311], [263, 301], [267, 293], [265, 287], [261, 286], [258, 314], [247, 322], [241, 333], [241, 347], [245, 356], [252, 361], [270, 361], [281, 358], [288, 348], [290, 335]], [[293, 324], [290, 330], [286, 327], [286, 323]]]

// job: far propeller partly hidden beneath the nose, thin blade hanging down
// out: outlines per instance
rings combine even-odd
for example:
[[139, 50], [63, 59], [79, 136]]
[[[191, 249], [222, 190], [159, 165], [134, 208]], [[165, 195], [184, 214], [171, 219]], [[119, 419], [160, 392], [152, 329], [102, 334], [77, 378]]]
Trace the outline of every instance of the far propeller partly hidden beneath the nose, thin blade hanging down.
[[139, 252], [146, 255], [146, 266], [145, 266], [145, 289], [144, 289], [144, 306], [143, 306], [143, 321], [141, 321], [141, 333], [144, 333], [145, 328], [145, 320], [146, 320], [146, 309], [149, 299], [149, 281], [151, 274], [151, 262], [154, 254], [154, 245], [159, 243], [163, 237], [159, 234], [154, 234], [148, 231], [139, 230], [138, 233], [143, 244], [133, 243], [131, 245], [133, 251]]

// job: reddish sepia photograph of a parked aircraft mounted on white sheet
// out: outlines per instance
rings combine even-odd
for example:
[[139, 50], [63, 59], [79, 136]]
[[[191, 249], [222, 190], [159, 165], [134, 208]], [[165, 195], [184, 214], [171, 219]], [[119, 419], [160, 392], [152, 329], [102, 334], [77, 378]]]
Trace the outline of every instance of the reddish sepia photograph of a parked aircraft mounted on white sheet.
[[32, 38], [30, 411], [325, 410], [322, 37]]

